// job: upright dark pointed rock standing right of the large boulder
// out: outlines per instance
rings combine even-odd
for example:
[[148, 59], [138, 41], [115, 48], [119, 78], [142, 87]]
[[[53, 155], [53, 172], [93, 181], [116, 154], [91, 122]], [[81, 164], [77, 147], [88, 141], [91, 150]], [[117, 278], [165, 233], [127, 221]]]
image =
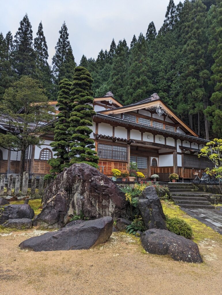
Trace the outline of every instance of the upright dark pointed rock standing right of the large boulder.
[[153, 186], [148, 186], [144, 189], [142, 198], [139, 199], [138, 207], [146, 230], [151, 228], [167, 230], [163, 208]]

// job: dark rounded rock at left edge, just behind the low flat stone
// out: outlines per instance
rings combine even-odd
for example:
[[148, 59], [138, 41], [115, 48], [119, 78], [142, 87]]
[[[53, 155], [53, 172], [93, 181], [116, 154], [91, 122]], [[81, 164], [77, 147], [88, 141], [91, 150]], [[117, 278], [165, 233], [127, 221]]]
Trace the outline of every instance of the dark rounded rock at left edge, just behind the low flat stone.
[[34, 211], [28, 204], [8, 205], [4, 207], [4, 211], [0, 213], [0, 224], [8, 219], [29, 218], [34, 217]]

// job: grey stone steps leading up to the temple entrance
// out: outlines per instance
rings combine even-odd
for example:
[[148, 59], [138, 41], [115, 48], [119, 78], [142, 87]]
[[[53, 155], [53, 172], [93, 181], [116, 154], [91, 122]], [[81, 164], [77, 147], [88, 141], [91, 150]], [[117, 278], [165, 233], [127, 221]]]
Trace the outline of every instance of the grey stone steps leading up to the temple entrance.
[[187, 209], [214, 209], [211, 203], [207, 200], [208, 194], [203, 191], [198, 191], [198, 188], [193, 183], [169, 183], [168, 188], [176, 205]]

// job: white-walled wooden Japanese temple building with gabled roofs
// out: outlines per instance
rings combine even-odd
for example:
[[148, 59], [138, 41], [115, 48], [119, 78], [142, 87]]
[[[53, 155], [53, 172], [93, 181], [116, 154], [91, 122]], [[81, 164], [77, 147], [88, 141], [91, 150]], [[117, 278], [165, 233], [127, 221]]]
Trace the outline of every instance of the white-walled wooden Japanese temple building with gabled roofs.
[[[50, 102], [55, 114], [56, 103]], [[154, 173], [160, 181], [169, 181], [170, 173], [190, 179], [193, 169], [204, 170], [212, 165], [207, 158], [198, 158], [198, 152], [208, 141], [200, 138], [156, 93], [123, 106], [108, 92], [94, 98], [93, 107], [96, 115], [91, 138], [95, 141], [99, 169], [107, 176], [111, 177], [113, 168], [127, 170], [130, 162], [137, 162], [147, 179]], [[5, 130], [7, 122], [0, 125], [0, 132]], [[54, 154], [50, 146], [53, 134], [43, 139], [40, 148], [32, 145], [26, 151], [26, 171], [30, 174], [49, 173], [47, 160]], [[19, 151], [0, 148], [0, 173], [17, 174], [19, 162]]]

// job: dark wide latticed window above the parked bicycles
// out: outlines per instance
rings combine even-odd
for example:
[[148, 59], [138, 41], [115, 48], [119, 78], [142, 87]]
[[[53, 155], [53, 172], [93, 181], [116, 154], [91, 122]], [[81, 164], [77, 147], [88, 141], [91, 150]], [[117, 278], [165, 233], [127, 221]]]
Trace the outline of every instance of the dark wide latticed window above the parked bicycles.
[[184, 154], [183, 162], [184, 162], [185, 168], [212, 169], [214, 167], [213, 163], [208, 158], [204, 158], [204, 157], [198, 158], [197, 156]]

